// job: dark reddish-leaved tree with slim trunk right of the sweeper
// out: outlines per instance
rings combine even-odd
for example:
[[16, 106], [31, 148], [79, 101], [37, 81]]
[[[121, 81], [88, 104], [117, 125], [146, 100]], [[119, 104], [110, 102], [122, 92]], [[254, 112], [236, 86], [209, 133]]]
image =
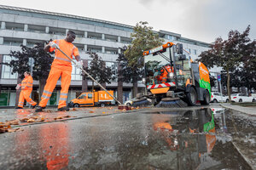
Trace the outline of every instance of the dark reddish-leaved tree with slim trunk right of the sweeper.
[[241, 65], [245, 52], [248, 52], [247, 46], [250, 42], [248, 37], [250, 26], [240, 33], [239, 31], [230, 31], [227, 40], [218, 37], [212, 44], [211, 49], [203, 52], [199, 59], [202, 63], [211, 68], [213, 65], [222, 67], [227, 76], [227, 90], [230, 98], [230, 71], [235, 70]]

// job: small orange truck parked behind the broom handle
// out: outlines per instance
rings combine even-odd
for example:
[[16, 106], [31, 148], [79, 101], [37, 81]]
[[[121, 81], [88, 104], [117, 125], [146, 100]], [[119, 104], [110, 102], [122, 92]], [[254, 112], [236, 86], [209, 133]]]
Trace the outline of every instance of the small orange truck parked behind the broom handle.
[[[113, 95], [113, 91], [109, 90], [109, 94]], [[82, 93], [78, 98], [73, 99], [69, 102], [70, 107], [80, 106], [101, 106], [111, 105], [113, 98], [105, 91]]]

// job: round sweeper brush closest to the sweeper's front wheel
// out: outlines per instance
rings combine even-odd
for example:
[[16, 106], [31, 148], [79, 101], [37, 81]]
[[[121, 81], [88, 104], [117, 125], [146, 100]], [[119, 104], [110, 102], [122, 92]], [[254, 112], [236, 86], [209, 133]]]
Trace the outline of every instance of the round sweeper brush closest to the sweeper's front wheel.
[[179, 98], [164, 98], [161, 99], [160, 103], [156, 107], [167, 107], [167, 108], [183, 108], [188, 106], [187, 103], [183, 102]]

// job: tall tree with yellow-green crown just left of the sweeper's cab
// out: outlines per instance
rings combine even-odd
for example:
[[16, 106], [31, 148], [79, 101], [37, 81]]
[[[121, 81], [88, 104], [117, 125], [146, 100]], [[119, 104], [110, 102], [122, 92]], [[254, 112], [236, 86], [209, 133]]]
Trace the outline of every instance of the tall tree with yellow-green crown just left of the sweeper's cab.
[[125, 67], [127, 71], [131, 71], [131, 77], [127, 77], [125, 82], [133, 83], [133, 97], [137, 94], [137, 81], [142, 77], [141, 68], [138, 59], [143, 56], [143, 51], [160, 46], [164, 40], [154, 33], [153, 27], [148, 26], [148, 22], [140, 21], [133, 28], [131, 33], [132, 42], [125, 50], [125, 59], [127, 59], [128, 66]]

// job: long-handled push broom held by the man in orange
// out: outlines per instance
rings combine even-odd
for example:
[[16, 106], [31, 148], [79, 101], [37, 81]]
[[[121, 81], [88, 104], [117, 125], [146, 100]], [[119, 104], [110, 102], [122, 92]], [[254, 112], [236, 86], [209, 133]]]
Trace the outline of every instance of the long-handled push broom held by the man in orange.
[[[67, 59], [70, 59], [71, 62], [73, 62], [73, 64], [77, 65], [76, 62], [74, 62], [73, 59], [71, 59], [67, 54], [65, 54], [57, 44], [55, 45], [55, 48], [57, 48], [58, 50], [60, 50], [61, 53], [64, 54], [64, 55], [67, 57]], [[101, 87], [107, 94], [109, 94], [109, 95], [119, 104], [119, 107], [118, 107], [119, 110], [124, 110], [124, 109], [125, 109], [125, 110], [131, 110], [131, 107], [129, 107], [129, 106], [127, 106], [127, 105], [122, 105], [121, 102], [119, 102], [118, 99], [116, 99], [115, 97], [113, 97], [113, 95], [110, 94], [106, 88], [103, 88], [102, 85], [101, 85], [99, 82], [97, 82], [93, 77], [91, 77], [90, 74], [89, 74], [87, 71], [84, 71], [84, 69], [83, 69], [82, 66], [79, 66], [79, 68], [81, 69], [81, 71], [84, 72], [84, 74], [85, 74], [86, 76], [90, 77], [90, 79], [91, 79], [93, 82], [96, 82], [96, 84], [97, 84], [99, 87]]]

